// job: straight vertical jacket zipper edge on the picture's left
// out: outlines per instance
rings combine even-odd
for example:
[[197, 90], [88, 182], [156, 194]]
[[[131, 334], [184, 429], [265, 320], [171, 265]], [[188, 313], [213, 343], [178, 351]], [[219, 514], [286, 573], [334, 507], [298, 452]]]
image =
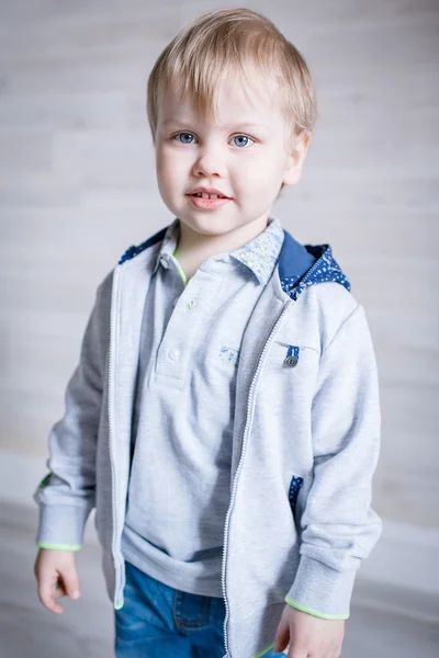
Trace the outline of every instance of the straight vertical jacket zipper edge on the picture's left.
[[[115, 337], [115, 321], [116, 314], [114, 307], [116, 305], [116, 298], [119, 294], [119, 271], [117, 268], [114, 270], [112, 290], [111, 290], [111, 305], [110, 305], [110, 345], [109, 345], [109, 400], [108, 400], [108, 413], [109, 413], [109, 452], [110, 452], [110, 467], [111, 467], [111, 502], [112, 502], [112, 518], [113, 518], [113, 533], [112, 533], [112, 557], [115, 572], [117, 574], [117, 566], [115, 563], [116, 555], [116, 500], [115, 500], [115, 473], [114, 473], [114, 442], [113, 442], [113, 413], [112, 400], [113, 400], [113, 363], [114, 363], [114, 337]], [[114, 608], [119, 609], [123, 602], [117, 601], [119, 597], [119, 583], [117, 577], [114, 582]]]

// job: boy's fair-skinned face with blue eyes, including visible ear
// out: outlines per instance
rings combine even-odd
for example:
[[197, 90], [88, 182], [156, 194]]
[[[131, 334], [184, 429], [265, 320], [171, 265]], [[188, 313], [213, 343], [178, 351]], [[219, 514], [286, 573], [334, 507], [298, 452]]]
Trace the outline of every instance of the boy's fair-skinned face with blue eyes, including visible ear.
[[[218, 90], [217, 122], [195, 114], [170, 86], [158, 109], [157, 181], [176, 217], [195, 232], [218, 236], [247, 225], [263, 230], [281, 184], [299, 181], [308, 138], [290, 132], [273, 90], [227, 82]], [[190, 195], [215, 188], [229, 197], [218, 207]], [[196, 205], [195, 205], [196, 204]], [[250, 225], [254, 225], [250, 227]], [[244, 229], [246, 232], [246, 229]]]

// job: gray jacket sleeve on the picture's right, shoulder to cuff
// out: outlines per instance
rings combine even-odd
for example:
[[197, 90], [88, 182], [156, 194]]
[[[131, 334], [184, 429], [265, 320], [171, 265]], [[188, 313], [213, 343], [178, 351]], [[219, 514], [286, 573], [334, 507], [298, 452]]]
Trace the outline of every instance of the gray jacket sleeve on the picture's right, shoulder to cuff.
[[312, 406], [314, 478], [300, 520], [300, 564], [286, 603], [346, 620], [354, 578], [382, 532], [371, 508], [380, 452], [378, 370], [359, 304], [320, 358]]

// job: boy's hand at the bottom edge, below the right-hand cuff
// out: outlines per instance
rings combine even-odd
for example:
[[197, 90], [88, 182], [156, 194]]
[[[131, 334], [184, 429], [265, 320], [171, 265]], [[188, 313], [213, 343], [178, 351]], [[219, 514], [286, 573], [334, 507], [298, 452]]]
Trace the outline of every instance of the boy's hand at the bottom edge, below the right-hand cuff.
[[284, 651], [290, 642], [288, 658], [339, 658], [344, 637], [345, 620], [322, 620], [286, 604], [273, 649]]

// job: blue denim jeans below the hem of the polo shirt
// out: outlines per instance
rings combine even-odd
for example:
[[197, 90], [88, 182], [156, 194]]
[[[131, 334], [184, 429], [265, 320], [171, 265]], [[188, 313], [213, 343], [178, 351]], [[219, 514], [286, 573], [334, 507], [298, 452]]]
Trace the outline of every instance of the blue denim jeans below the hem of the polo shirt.
[[[223, 658], [224, 599], [168, 587], [125, 563], [124, 604], [116, 610], [116, 658]], [[272, 658], [284, 654], [273, 650]]]

